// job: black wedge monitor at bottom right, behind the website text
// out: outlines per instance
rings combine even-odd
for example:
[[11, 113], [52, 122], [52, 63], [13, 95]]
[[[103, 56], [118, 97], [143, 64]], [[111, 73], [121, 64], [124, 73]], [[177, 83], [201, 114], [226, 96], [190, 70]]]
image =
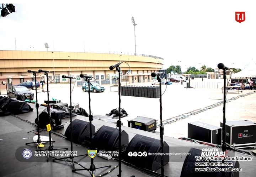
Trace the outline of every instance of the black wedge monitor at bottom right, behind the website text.
[[[181, 177], [198, 177], [198, 176], [208, 176], [208, 177], [222, 177], [222, 171], [207, 171], [207, 172], [196, 172], [196, 168], [206, 168], [206, 166], [196, 166], [195, 162], [208, 162], [208, 161], [196, 161], [196, 156], [201, 156], [202, 150], [201, 149], [196, 149], [196, 148], [191, 148], [188, 153], [191, 153], [190, 155], [186, 156], [186, 159], [184, 161], [182, 170], [181, 170]], [[222, 162], [220, 161], [209, 161], [211, 162]], [[238, 161], [225, 161], [225, 162], [232, 162], [232, 166], [207, 166], [210, 168], [228, 168], [231, 167], [233, 168], [239, 168], [239, 162]], [[225, 175], [224, 177], [239, 177], [239, 172], [233, 172], [233, 171], [227, 171], [224, 172]]]

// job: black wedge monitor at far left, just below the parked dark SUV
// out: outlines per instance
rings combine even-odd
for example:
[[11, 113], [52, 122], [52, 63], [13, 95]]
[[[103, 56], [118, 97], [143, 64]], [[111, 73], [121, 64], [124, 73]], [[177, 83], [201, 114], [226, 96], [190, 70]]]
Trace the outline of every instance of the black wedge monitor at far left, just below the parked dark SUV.
[[26, 102], [16, 102], [12, 101], [9, 103], [8, 107], [6, 108], [8, 112], [11, 114], [21, 114], [30, 112], [30, 106]]

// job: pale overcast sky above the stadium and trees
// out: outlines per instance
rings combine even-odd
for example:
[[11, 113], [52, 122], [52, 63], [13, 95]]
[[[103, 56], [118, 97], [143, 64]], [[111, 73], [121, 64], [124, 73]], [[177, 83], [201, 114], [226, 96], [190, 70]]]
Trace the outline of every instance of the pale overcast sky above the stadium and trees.
[[[3, 3], [3, 2], [1, 2]], [[13, 0], [0, 18], [0, 50], [136, 53], [164, 58], [164, 69], [256, 61], [254, 0]], [[245, 21], [235, 21], [245, 12]], [[181, 62], [178, 62], [181, 61]], [[200, 63], [200, 64], [199, 64]]]

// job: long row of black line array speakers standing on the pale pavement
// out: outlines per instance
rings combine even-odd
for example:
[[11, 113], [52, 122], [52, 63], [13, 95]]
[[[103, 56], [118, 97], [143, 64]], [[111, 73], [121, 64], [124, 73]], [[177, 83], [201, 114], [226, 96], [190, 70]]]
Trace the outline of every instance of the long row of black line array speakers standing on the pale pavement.
[[121, 86], [122, 96], [160, 98], [159, 86]]

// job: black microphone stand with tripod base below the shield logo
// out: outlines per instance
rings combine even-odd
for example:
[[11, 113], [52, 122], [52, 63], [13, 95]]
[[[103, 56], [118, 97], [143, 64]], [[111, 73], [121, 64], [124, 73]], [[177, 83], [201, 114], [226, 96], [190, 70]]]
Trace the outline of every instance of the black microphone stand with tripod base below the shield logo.
[[[90, 96], [90, 79], [89, 78], [86, 78], [86, 81], [88, 82], [88, 94], [89, 94], [89, 125], [90, 125], [90, 145], [91, 145], [91, 150], [93, 149], [92, 147], [92, 120], [93, 120], [93, 115], [91, 115], [91, 96]], [[71, 105], [70, 105], [71, 107]], [[72, 136], [72, 135], [71, 135]], [[90, 157], [91, 158], [91, 157]], [[107, 166], [102, 166], [102, 167], [95, 167], [94, 165], [94, 157], [91, 158], [91, 166], [89, 169], [73, 169], [72, 172], [75, 172], [75, 171], [83, 171], [83, 170], [87, 170], [89, 171], [90, 175], [92, 177], [95, 177], [94, 173], [95, 173], [95, 170], [96, 169], [101, 169], [101, 168], [105, 168], [105, 167], [111, 167], [111, 165], [107, 165]], [[92, 172], [92, 173], [91, 173]]]

